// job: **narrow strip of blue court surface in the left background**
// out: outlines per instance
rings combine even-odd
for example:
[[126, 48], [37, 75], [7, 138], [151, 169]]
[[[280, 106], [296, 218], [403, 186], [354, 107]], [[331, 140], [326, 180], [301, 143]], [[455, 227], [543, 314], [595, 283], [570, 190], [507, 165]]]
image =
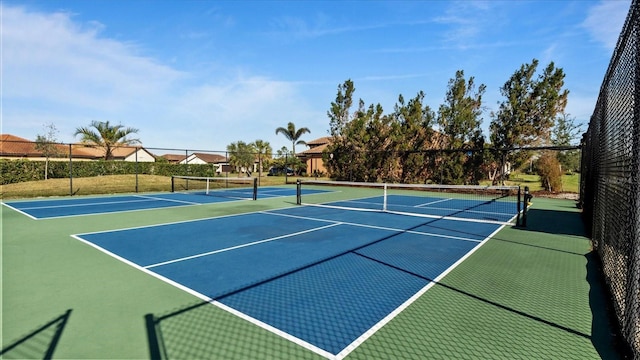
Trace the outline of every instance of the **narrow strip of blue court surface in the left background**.
[[[315, 192], [321, 191], [305, 190], [307, 194]], [[264, 187], [259, 188], [258, 199], [295, 194], [295, 188]], [[4, 205], [33, 219], [47, 219], [250, 200], [252, 195], [252, 189], [234, 189], [233, 192], [211, 191], [209, 195], [205, 195], [204, 192], [175, 192], [108, 197], [72, 197], [55, 200], [12, 201], [6, 202]]]

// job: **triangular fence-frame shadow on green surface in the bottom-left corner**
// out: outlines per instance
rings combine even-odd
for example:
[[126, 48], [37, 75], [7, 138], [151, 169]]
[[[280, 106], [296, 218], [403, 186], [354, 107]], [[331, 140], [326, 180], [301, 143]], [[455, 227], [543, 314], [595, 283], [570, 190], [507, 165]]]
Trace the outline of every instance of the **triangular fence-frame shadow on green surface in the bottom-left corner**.
[[71, 309], [7, 345], [0, 352], [0, 357], [3, 359], [52, 359], [70, 316]]

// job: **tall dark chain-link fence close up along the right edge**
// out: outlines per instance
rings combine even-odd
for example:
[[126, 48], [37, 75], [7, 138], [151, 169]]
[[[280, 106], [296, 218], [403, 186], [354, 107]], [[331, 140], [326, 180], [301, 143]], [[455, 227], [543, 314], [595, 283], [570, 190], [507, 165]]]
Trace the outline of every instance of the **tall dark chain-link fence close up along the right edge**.
[[580, 198], [622, 335], [640, 359], [640, 1], [629, 15], [583, 137]]

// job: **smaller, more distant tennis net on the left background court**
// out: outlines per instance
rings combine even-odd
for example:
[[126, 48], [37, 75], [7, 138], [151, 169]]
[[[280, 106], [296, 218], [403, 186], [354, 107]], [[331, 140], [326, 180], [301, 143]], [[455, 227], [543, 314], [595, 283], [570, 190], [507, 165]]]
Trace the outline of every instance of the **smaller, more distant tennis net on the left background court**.
[[258, 179], [250, 177], [172, 176], [171, 192], [256, 200], [258, 198]]

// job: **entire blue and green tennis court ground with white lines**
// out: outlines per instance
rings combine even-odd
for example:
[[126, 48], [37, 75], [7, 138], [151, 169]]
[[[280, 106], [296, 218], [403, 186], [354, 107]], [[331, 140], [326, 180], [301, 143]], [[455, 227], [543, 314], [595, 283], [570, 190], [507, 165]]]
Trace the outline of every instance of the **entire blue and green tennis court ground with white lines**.
[[[309, 184], [260, 188], [257, 201], [144, 195], [171, 205], [135, 211], [121, 206], [139, 196], [11, 202], [3, 356], [611, 353], [593, 342], [588, 239], [541, 232], [554, 216], [542, 227], [535, 210], [527, 229], [513, 226], [513, 194], [496, 194]], [[66, 210], [83, 207], [101, 216]]]

